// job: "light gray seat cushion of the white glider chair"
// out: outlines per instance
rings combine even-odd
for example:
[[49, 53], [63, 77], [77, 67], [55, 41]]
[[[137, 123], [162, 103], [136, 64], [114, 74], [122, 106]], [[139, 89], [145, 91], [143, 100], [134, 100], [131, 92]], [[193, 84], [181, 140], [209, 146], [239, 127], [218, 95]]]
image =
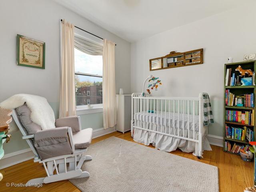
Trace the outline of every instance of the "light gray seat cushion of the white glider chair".
[[87, 148], [92, 142], [92, 128], [73, 133], [73, 142], [76, 149]]

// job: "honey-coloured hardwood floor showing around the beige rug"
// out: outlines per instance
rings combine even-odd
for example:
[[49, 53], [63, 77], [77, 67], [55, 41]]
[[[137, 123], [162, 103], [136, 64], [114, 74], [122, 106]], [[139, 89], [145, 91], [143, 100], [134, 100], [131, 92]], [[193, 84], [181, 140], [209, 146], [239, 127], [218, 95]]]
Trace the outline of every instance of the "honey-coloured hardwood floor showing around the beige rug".
[[[99, 142], [108, 137], [116, 136], [131, 142], [134, 142], [130, 137], [130, 132], [122, 134], [120, 132], [110, 133], [92, 140], [92, 143]], [[153, 146], [149, 146], [154, 148]], [[244, 162], [240, 156], [223, 152], [223, 149], [218, 146], [212, 146], [212, 151], [205, 151], [204, 158], [198, 160], [192, 153], [184, 153], [180, 150], [170, 152], [185, 158], [190, 158], [195, 161], [200, 161], [206, 164], [217, 166], [219, 170], [219, 186], [220, 192], [242, 192], [246, 186], [253, 185], [253, 162]], [[4, 175], [0, 181], [0, 192], [79, 192], [78, 188], [68, 180], [43, 184], [43, 187], [6, 187], [6, 183], [23, 183], [25, 184], [32, 178], [46, 176], [43, 166], [39, 163], [34, 163], [33, 160], [28, 160], [20, 164], [0, 170]], [[210, 181], [209, 181], [210, 182]]]

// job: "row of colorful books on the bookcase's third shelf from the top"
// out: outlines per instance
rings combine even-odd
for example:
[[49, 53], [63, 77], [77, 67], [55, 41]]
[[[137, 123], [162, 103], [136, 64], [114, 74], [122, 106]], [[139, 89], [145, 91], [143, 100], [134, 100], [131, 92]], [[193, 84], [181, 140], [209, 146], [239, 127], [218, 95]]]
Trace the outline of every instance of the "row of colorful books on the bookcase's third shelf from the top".
[[254, 126], [254, 110], [252, 112], [226, 110], [226, 121]]

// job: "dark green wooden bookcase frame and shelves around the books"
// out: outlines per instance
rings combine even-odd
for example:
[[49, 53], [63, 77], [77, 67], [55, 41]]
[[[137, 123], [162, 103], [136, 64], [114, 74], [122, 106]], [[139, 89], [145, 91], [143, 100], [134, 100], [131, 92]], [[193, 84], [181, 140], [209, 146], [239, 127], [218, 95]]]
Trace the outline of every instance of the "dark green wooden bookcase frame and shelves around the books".
[[[243, 114], [244, 113], [246, 114], [247, 112], [252, 113], [252, 112], [254, 112], [253, 110], [256, 110], [255, 104], [254, 104], [254, 107], [228, 106], [228, 105], [226, 105], [226, 102], [230, 101], [230, 100], [226, 100], [226, 90], [227, 90], [228, 93], [229, 92], [232, 93], [231, 98], [232, 98], [232, 95], [234, 95], [236, 97], [236, 96], [244, 96], [244, 95], [247, 95], [247, 94], [252, 94], [254, 96], [253, 103], [255, 103], [256, 86], [254, 86], [254, 85], [251, 85], [251, 86], [226, 86], [227, 69], [230, 69], [231, 74], [234, 73], [235, 77], [237, 77], [238, 75], [240, 75], [240, 73], [238, 71], [236, 71], [236, 68], [238, 68], [239, 65], [242, 66], [242, 68], [245, 69], [245, 70], [246, 69], [251, 69], [253, 72], [256, 72], [256, 60], [225, 64], [225, 68], [224, 68], [224, 131], [223, 131], [223, 133], [224, 133], [223, 138], [224, 139], [223, 139], [223, 146], [225, 146], [225, 142], [227, 142], [226, 144], [228, 144], [228, 143], [231, 144], [231, 148], [232, 148], [232, 146], [234, 146], [235, 143], [238, 146], [245, 146], [245, 145], [249, 145], [249, 142], [226, 137], [226, 126], [234, 127], [234, 128], [237, 128], [238, 130], [243, 130], [243, 127], [246, 126], [246, 128], [247, 128], [246, 132], [247, 132], [247, 130], [253, 131], [253, 139], [254, 139], [254, 141], [256, 140], [255, 139], [256, 137], [255, 137], [255, 134], [254, 134], [256, 132], [255, 126], [247, 125], [247, 124], [241, 124], [241, 123], [237, 123], [237, 122], [230, 122], [230, 121], [226, 120], [226, 110], [229, 110], [231, 112], [232, 111], [240, 111], [240, 112], [242, 111]], [[229, 75], [229, 77], [230, 77], [230, 75]], [[229, 77], [227, 77], [227, 80], [229, 80], [229, 82], [230, 82]], [[228, 85], [229, 85], [229, 83], [228, 83]], [[246, 100], [246, 102], [248, 102], [248, 101], [252, 102], [252, 100], [250, 101], [250, 98], [248, 100]], [[233, 102], [234, 102], [234, 98], [233, 98]], [[231, 103], [232, 103], [231, 105], [236, 104], [236, 102], [234, 102], [234, 103], [233, 102], [232, 102], [232, 99], [231, 99]], [[249, 104], [249, 106], [250, 106], [250, 104]], [[230, 112], [228, 112], [228, 114], [230, 114]], [[239, 118], [240, 117], [240, 116], [236, 116], [236, 115], [237, 115], [236, 112], [234, 112], [234, 118]], [[254, 120], [254, 123], [252, 123], [252, 124], [256, 125], [256, 122], [255, 122], [256, 113], [255, 112], [254, 112], [253, 117], [252, 117], [252, 115], [250, 116], [250, 119]], [[234, 130], [234, 128], [233, 128], [233, 130]], [[239, 131], [238, 131], [238, 133], [239, 133]], [[232, 153], [232, 152], [226, 150], [225, 147], [223, 149], [224, 149], [224, 152], [239, 155], [239, 153]]]

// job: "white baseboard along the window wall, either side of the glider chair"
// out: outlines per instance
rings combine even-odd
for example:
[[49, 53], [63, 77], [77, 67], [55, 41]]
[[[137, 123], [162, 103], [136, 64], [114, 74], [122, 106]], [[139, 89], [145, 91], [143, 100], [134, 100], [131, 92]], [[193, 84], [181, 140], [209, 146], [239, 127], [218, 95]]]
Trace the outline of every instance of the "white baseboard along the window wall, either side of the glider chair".
[[[112, 132], [116, 131], [116, 127], [104, 129], [99, 128], [92, 131], [92, 138], [97, 138]], [[5, 154], [4, 157], [0, 160], [0, 169], [16, 165], [18, 163], [30, 160], [34, 158], [34, 153], [30, 148], [15, 151], [12, 153]]]

